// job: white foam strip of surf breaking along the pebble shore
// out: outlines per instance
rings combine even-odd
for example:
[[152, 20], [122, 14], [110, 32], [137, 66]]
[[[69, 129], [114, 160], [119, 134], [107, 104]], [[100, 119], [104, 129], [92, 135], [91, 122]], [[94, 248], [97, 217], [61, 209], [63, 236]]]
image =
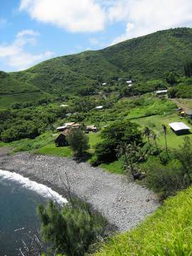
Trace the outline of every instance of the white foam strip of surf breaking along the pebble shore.
[[40, 194], [44, 198], [50, 198], [54, 201], [57, 201], [60, 204], [68, 203], [68, 201], [65, 198], [63, 198], [63, 196], [53, 191], [48, 186], [45, 186], [41, 183], [37, 183], [36, 181], [31, 181], [29, 178], [25, 178], [20, 174], [16, 174], [11, 171], [3, 171], [0, 169], [0, 178], [6, 179], [9, 181], [17, 181], [24, 188], [28, 188], [31, 191], [35, 191], [36, 193]]

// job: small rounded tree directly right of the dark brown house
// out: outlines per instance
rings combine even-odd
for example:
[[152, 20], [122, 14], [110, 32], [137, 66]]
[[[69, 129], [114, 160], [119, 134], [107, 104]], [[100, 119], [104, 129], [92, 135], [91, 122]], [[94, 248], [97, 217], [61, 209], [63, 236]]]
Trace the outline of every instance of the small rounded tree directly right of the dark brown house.
[[81, 129], [70, 131], [66, 139], [75, 156], [82, 156], [90, 148], [89, 137]]

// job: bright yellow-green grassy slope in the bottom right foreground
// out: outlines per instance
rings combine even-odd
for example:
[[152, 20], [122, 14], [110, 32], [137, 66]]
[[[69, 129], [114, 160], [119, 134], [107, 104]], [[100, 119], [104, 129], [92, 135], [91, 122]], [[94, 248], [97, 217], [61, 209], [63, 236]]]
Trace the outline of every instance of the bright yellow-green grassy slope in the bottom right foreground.
[[97, 256], [192, 254], [192, 187], [169, 198], [144, 223], [103, 245]]

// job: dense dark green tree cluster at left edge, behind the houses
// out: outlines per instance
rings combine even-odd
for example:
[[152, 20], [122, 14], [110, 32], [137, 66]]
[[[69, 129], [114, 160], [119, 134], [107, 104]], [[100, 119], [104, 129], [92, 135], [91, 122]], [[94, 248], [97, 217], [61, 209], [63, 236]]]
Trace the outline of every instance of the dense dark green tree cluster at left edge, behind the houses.
[[28, 107], [21, 110], [0, 110], [0, 139], [13, 142], [18, 139], [34, 139], [53, 129], [53, 123], [65, 118], [61, 107]]

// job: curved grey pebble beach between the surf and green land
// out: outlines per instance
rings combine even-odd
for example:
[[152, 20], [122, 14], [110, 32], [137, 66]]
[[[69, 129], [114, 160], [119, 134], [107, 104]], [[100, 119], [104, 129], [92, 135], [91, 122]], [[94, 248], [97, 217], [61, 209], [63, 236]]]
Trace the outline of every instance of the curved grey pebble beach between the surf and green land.
[[73, 159], [26, 152], [10, 156], [0, 149], [0, 169], [42, 183], [65, 198], [69, 180], [71, 195], [89, 203], [120, 231], [134, 228], [159, 207], [156, 195], [147, 188]]

